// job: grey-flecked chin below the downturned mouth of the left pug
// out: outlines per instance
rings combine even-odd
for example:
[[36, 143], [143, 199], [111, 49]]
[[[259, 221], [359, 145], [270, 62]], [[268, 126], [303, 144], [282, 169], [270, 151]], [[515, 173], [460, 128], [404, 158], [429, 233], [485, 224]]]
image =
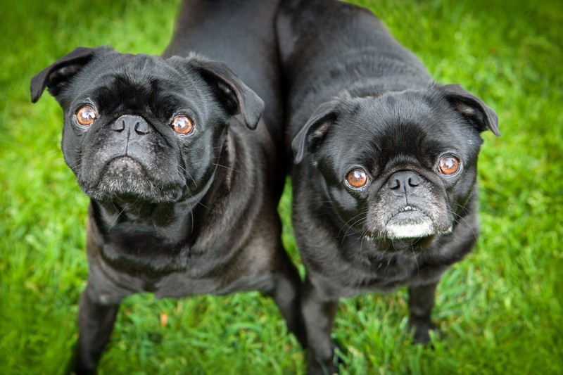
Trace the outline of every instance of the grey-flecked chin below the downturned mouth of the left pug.
[[173, 203], [182, 195], [181, 189], [157, 186], [143, 167], [131, 158], [112, 160], [96, 184], [80, 184], [84, 193], [95, 201], [128, 203]]

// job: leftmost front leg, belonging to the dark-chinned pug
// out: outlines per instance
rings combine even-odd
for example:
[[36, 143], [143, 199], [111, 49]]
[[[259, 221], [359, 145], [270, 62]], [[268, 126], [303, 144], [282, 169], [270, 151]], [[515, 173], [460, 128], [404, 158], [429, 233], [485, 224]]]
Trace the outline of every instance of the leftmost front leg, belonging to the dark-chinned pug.
[[96, 374], [119, 310], [119, 303], [101, 303], [93, 289], [88, 284], [78, 304], [78, 343], [70, 364], [70, 372], [78, 375]]

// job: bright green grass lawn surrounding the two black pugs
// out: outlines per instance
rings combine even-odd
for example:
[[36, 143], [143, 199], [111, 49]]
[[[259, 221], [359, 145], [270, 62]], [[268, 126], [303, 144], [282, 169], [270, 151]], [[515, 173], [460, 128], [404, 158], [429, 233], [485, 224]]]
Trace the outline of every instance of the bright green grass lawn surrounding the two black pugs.
[[[460, 83], [493, 107], [502, 137], [484, 135], [482, 235], [438, 287], [434, 350], [410, 343], [404, 289], [362, 295], [339, 307], [342, 373], [561, 374], [563, 6], [357, 2], [438, 82]], [[48, 95], [30, 103], [30, 78], [76, 46], [158, 54], [177, 11], [165, 0], [43, 3], [0, 4], [0, 374], [61, 373], [87, 277], [87, 198], [63, 162], [61, 110]], [[289, 227], [284, 242], [298, 258]], [[299, 374], [303, 354], [259, 293], [136, 295], [122, 304], [100, 373]]]

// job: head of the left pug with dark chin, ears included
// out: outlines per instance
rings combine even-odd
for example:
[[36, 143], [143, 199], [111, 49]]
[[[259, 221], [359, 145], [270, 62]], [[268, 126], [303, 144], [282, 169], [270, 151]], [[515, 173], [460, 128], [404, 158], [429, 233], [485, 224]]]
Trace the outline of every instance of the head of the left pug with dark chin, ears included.
[[205, 193], [229, 120], [254, 129], [264, 108], [226, 65], [198, 56], [78, 48], [33, 77], [32, 102], [45, 88], [63, 108], [65, 161], [98, 201]]

